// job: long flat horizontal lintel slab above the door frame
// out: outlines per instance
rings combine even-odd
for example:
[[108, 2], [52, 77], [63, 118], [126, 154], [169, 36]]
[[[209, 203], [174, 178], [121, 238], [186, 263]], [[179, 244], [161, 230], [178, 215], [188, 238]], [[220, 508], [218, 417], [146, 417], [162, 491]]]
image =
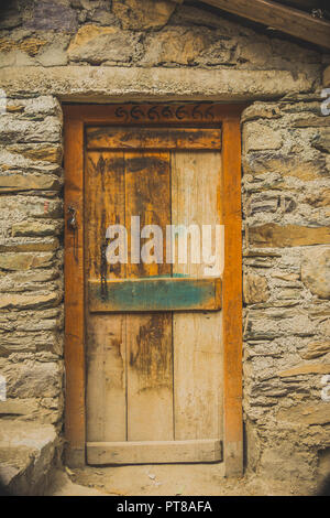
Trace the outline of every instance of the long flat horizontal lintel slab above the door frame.
[[[28, 85], [28, 86], [26, 86]], [[0, 87], [8, 96], [55, 95], [63, 101], [129, 100], [244, 101], [307, 93], [314, 79], [289, 71], [142, 68], [96, 66], [7, 67]]]

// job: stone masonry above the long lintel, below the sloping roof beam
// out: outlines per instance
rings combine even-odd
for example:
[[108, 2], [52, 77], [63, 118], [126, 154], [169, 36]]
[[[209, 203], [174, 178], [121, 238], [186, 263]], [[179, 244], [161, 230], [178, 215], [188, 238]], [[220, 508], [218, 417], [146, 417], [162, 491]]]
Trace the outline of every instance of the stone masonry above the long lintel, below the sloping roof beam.
[[0, 21], [0, 66], [289, 71], [319, 82], [318, 52], [179, 3], [9, 0]]

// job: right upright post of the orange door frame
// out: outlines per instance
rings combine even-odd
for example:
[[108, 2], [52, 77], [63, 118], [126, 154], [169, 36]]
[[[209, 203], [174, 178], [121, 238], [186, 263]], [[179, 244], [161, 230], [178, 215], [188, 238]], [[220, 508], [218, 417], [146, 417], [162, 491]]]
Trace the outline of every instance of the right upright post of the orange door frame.
[[243, 419], [241, 131], [238, 117], [223, 121], [222, 171], [224, 465], [228, 476], [239, 476], [243, 471]]

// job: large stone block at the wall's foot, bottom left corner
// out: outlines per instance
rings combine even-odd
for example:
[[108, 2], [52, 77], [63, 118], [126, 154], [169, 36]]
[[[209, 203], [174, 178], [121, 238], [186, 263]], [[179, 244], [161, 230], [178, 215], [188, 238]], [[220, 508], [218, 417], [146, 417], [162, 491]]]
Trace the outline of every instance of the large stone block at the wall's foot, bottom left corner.
[[54, 473], [58, 436], [51, 424], [0, 420], [0, 482], [11, 495], [43, 495]]

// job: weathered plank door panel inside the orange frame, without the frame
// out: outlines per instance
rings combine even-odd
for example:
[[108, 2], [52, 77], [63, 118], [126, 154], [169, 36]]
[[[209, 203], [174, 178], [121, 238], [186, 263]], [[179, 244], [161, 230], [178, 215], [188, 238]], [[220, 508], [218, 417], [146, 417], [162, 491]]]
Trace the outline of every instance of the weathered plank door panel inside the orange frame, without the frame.
[[[221, 129], [89, 127], [85, 164], [88, 462], [220, 461], [220, 272], [205, 276], [188, 234], [187, 262], [178, 244], [167, 261], [166, 236], [220, 225]], [[143, 261], [143, 237], [136, 257], [132, 217], [142, 236], [161, 229], [160, 262]], [[128, 236], [127, 262], [112, 267], [110, 225]]]

